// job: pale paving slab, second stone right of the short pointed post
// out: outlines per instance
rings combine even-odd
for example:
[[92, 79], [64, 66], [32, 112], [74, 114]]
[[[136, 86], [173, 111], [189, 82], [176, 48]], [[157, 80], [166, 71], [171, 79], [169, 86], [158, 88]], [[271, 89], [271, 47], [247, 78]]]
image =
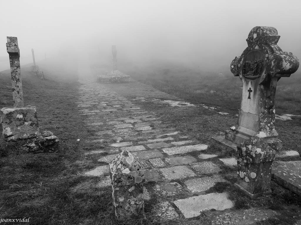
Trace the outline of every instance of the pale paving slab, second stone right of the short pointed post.
[[186, 166], [177, 166], [159, 169], [167, 181], [185, 179], [197, 176]]

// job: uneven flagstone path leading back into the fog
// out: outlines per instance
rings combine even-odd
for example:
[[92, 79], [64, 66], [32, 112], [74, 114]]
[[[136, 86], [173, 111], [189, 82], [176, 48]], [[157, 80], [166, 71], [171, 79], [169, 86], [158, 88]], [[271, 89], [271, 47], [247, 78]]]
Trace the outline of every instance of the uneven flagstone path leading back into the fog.
[[[84, 174], [101, 177], [97, 187], [110, 186], [108, 164], [126, 149], [147, 170], [146, 184], [150, 185], [144, 187], [145, 201], [151, 201], [154, 194], [162, 197], [153, 210], [161, 219], [191, 218], [216, 209], [231, 213], [210, 214], [212, 224], [253, 224], [277, 214], [262, 208], [234, 210], [234, 201], [228, 193], [205, 193], [219, 182], [227, 184], [219, 173], [223, 164], [236, 167], [234, 158], [218, 159], [218, 155], [203, 154], [208, 148], [206, 143], [195, 143], [180, 131], [166, 128], [154, 113], [143, 110], [136, 101], [110, 90], [106, 84], [89, 78], [81, 78], [79, 82], [82, 85], [76, 103], [78, 110], [87, 116], [86, 123], [97, 130], [94, 139], [86, 140], [96, 147], [85, 155], [93, 154], [102, 163]], [[97, 149], [98, 144], [107, 142], [110, 142], [107, 147]]]

